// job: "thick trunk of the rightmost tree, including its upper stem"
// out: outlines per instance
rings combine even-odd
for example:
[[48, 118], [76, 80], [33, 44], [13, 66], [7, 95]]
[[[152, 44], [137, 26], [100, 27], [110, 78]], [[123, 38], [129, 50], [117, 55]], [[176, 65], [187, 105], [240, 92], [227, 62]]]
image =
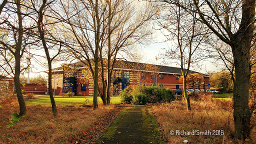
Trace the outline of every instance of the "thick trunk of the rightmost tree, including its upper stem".
[[249, 88], [250, 88], [250, 48], [255, 20], [255, 0], [243, 0], [242, 18], [239, 30], [231, 45], [235, 78], [233, 88], [234, 135], [236, 138], [250, 139]]

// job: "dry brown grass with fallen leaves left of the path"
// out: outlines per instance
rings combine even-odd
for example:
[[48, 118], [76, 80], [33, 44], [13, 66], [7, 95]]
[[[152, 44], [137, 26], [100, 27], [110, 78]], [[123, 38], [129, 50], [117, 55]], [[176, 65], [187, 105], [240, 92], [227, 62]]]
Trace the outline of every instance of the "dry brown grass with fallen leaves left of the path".
[[58, 116], [53, 116], [50, 106], [27, 106], [25, 117], [12, 128], [7, 128], [5, 119], [19, 110], [17, 100], [0, 99], [0, 143], [67, 143], [95, 122], [98, 117], [114, 108], [57, 106]]

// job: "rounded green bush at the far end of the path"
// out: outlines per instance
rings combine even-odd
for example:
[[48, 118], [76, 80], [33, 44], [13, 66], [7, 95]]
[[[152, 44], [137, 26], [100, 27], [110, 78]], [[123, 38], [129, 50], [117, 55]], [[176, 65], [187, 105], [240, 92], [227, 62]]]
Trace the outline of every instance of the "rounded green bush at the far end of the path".
[[160, 86], [144, 86], [142, 84], [129, 85], [120, 93], [122, 102], [132, 104], [146, 104], [156, 102], [170, 102], [175, 99], [171, 89]]

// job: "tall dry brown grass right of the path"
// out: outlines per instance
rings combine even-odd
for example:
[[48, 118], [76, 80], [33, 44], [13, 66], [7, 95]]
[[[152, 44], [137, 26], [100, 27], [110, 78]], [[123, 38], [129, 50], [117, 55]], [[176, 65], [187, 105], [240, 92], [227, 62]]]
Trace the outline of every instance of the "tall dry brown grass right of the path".
[[[174, 100], [171, 103], [163, 103], [153, 106], [152, 111], [162, 130], [163, 137], [168, 143], [182, 143], [187, 139], [189, 143], [242, 143], [232, 137], [234, 131], [232, 101], [214, 100], [207, 96], [200, 100], [190, 100], [192, 111], [186, 110], [185, 101]], [[251, 118], [255, 123], [255, 116]], [[210, 135], [173, 135], [170, 130], [181, 131], [205, 131]], [[223, 130], [223, 135], [212, 135], [212, 130]], [[255, 138], [255, 128], [251, 131], [251, 137]], [[254, 139], [247, 143], [254, 142]]]

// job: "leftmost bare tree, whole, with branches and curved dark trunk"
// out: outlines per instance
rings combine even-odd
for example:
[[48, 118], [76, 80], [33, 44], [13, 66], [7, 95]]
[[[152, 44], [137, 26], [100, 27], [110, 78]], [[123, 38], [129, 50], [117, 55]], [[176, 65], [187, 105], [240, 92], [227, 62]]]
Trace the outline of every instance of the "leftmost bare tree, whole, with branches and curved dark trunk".
[[[5, 3], [5, 6], [3, 5]], [[28, 35], [25, 33], [31, 27], [31, 25], [27, 23], [23, 23], [26, 15], [26, 1], [21, 0], [11, 0], [11, 1], [3, 1], [1, 6], [3, 5], [3, 9], [1, 9], [1, 22], [0, 29], [7, 31], [6, 36], [7, 39], [4, 41], [0, 39], [0, 49], [4, 52], [1, 52], [1, 55], [5, 55], [8, 53], [10, 55], [6, 55], [5, 62], [11, 69], [11, 73], [13, 73], [13, 79], [15, 83], [16, 95], [19, 103], [19, 115], [22, 116], [26, 113], [25, 102], [21, 93], [19, 75], [20, 72], [27, 68], [21, 68], [20, 60], [23, 56], [23, 53], [26, 50], [26, 46], [29, 44]], [[1, 7], [2, 8], [2, 7]], [[6, 51], [5, 51], [6, 50]], [[10, 58], [8, 57], [10, 56]], [[13, 57], [12, 57], [13, 56]], [[10, 64], [10, 59], [13, 58], [14, 68]], [[7, 72], [7, 71], [6, 71]]]

